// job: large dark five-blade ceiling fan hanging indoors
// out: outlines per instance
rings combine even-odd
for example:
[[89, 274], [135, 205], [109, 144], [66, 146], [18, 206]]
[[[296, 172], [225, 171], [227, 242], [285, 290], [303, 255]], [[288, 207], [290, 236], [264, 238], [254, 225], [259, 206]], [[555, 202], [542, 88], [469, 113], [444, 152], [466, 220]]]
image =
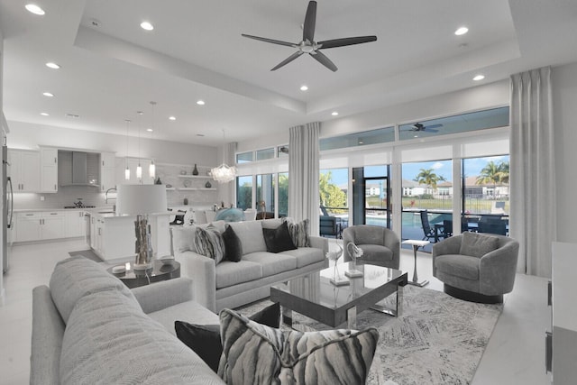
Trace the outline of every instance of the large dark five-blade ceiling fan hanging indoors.
[[268, 38], [262, 38], [260, 36], [247, 35], [245, 33], [242, 33], [242, 35], [245, 38], [270, 42], [272, 44], [286, 45], [298, 49], [298, 51], [290, 55], [289, 58], [282, 60], [278, 65], [270, 69], [271, 71], [274, 71], [289, 64], [292, 60], [297, 59], [303, 53], [308, 53], [316, 61], [324, 65], [327, 69], [330, 69], [334, 72], [337, 70], [336, 66], [320, 50], [326, 50], [329, 48], [336, 48], [336, 47], [344, 47], [346, 45], [361, 44], [363, 42], [370, 42], [377, 40], [377, 36], [357, 36], [351, 38], [333, 39], [326, 41], [315, 41], [315, 24], [316, 24], [316, 1], [310, 1], [308, 2], [307, 14], [305, 15], [305, 24], [303, 26], [302, 41], [298, 43], [293, 43], [289, 41], [279, 41]]

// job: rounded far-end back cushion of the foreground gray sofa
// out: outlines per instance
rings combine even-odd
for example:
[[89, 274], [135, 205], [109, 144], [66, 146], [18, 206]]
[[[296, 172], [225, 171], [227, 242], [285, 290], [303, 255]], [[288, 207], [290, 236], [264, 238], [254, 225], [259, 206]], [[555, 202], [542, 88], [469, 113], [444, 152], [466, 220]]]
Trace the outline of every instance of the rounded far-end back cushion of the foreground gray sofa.
[[107, 290], [117, 291], [140, 307], [133, 292], [121, 280], [109, 274], [102, 265], [80, 255], [58, 262], [50, 277], [52, 301], [66, 324], [78, 299]]

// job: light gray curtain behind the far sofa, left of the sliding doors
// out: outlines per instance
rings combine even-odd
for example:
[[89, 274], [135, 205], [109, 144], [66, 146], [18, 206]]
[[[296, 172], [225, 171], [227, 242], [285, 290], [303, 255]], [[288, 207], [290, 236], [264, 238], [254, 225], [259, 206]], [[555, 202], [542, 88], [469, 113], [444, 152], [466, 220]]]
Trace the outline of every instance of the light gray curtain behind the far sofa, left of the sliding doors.
[[290, 127], [289, 216], [310, 220], [310, 234], [318, 234], [318, 133], [320, 123]]

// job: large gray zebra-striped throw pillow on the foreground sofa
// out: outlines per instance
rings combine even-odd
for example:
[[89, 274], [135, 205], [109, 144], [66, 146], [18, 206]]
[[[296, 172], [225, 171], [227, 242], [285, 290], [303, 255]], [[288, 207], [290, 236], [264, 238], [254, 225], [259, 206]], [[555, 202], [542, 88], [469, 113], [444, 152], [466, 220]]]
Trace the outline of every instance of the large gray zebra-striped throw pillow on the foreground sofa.
[[229, 385], [363, 384], [379, 340], [372, 327], [360, 332], [281, 331], [230, 309], [221, 311], [220, 327], [218, 375]]

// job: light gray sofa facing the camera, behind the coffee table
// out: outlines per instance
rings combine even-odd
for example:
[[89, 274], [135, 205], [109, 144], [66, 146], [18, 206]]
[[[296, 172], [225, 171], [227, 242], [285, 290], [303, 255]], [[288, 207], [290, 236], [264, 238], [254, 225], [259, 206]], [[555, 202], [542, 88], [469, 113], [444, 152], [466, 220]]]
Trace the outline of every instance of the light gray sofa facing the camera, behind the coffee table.
[[194, 226], [172, 227], [172, 252], [180, 274], [192, 279], [195, 299], [219, 312], [270, 296], [270, 286], [327, 266], [328, 240], [309, 236], [310, 247], [267, 252], [262, 228], [276, 228], [280, 219], [229, 223], [243, 244], [241, 261], [215, 261], [193, 251]]

